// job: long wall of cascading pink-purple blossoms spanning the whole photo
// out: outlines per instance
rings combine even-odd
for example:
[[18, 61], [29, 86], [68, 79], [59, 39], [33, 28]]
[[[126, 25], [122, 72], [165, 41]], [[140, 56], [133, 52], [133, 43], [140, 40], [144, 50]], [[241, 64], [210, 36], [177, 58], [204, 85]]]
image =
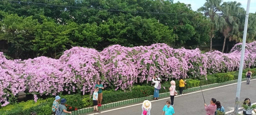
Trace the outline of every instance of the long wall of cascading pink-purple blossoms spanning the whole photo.
[[[173, 49], [166, 44], [122, 47], [112, 45], [103, 51], [73, 47], [60, 59], [37, 57], [7, 60], [0, 52], [0, 102], [24, 91], [37, 95], [56, 95], [61, 91], [92, 92], [97, 80], [117, 89], [130, 89], [134, 84], [151, 83], [152, 76], [178, 79], [180, 76], [206, 78], [206, 74], [237, 70], [241, 43], [230, 53], [201, 53], [199, 49]], [[244, 68], [256, 66], [256, 41], [246, 44]]]

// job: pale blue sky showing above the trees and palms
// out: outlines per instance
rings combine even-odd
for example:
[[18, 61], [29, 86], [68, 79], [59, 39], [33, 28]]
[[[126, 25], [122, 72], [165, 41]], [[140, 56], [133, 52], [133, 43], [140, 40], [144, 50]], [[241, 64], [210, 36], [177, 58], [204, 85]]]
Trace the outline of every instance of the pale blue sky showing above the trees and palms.
[[[197, 10], [199, 7], [203, 6], [206, 0], [173, 0], [174, 3], [176, 2], [180, 3], [185, 3], [185, 4], [191, 4], [192, 10]], [[242, 4], [242, 7], [246, 10], [247, 7], [247, 0], [223, 0], [223, 2], [228, 2], [228, 1], [237, 1]], [[250, 2], [250, 13], [255, 13], [256, 12], [256, 0], [251, 0]]]

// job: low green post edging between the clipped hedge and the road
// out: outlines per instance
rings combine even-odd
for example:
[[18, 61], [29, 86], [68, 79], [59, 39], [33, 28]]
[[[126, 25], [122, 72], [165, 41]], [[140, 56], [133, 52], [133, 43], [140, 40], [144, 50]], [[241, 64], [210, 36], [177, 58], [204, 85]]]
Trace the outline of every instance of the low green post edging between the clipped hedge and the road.
[[[252, 76], [252, 78], [256, 78], [256, 76]], [[242, 80], [246, 80], [246, 78], [242, 78]], [[234, 83], [234, 82], [237, 82], [237, 81], [238, 81], [238, 79], [230, 80], [230, 81], [222, 82], [222, 83], [214, 83], [214, 84], [201, 86], [201, 88], [206, 89], [206, 88], [209, 88], [209, 87], [215, 87], [215, 86], [220, 86], [220, 85], [224, 85], [224, 84]], [[201, 90], [201, 88], [200, 88], [200, 86], [199, 87], [192, 87], [192, 88], [188, 88], [188, 89], [183, 90], [183, 92], [186, 93], [186, 92]], [[179, 93], [179, 91], [177, 91], [177, 92]], [[170, 95], [170, 92], [161, 93], [161, 94], [159, 94], [159, 98], [167, 97], [169, 95]], [[147, 97], [141, 97], [141, 98], [128, 99], [128, 100], [123, 100], [123, 101], [118, 101], [118, 102], [112, 102], [112, 103], [104, 104], [104, 105], [102, 105], [102, 107], [98, 107], [98, 109], [103, 110], [103, 109], [108, 109], [108, 108], [133, 104], [133, 103], [137, 103], [137, 102], [143, 102], [145, 99], [152, 99], [152, 98], [153, 98], [153, 95], [150, 95], [150, 96], [147, 96]], [[88, 108], [83, 108], [83, 109], [79, 109], [79, 110], [76, 110], [76, 111], [71, 111], [71, 113], [72, 113], [72, 115], [79, 115], [79, 114], [89, 113], [89, 112], [92, 112], [92, 111], [93, 111], [93, 107], [88, 107]], [[66, 115], [71, 115], [71, 114], [66, 113]]]

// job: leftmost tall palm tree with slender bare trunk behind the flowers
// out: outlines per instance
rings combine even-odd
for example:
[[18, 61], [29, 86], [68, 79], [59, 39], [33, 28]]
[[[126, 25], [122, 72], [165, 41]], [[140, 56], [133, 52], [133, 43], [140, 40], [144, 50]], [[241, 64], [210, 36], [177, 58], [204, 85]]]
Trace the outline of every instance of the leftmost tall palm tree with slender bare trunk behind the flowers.
[[214, 31], [219, 29], [218, 12], [222, 0], [206, 0], [204, 6], [197, 9], [198, 12], [204, 12], [204, 15], [210, 20], [210, 51], [212, 50], [212, 38]]

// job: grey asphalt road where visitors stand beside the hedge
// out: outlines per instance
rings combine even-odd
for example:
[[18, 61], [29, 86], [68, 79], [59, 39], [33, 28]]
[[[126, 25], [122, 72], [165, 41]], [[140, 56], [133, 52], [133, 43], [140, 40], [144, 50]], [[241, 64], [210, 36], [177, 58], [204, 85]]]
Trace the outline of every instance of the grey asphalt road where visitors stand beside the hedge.
[[[228, 86], [220, 86], [219, 88], [210, 88], [203, 90], [205, 102], [210, 104], [211, 98], [216, 98], [221, 102], [221, 105], [225, 108], [225, 111], [234, 110], [234, 103], [236, 97], [237, 84], [230, 84]], [[250, 98], [252, 103], [256, 102], [255, 96], [256, 80], [253, 79], [250, 85], [246, 85], [246, 82], [241, 84], [240, 101], [245, 98]], [[163, 106], [170, 98], [163, 98], [159, 100], [150, 100], [152, 102], [151, 115], [161, 115]], [[140, 115], [142, 113], [142, 104], [135, 103], [133, 105], [126, 105], [122, 107], [116, 107], [113, 109], [102, 110], [104, 115]], [[200, 91], [187, 93], [183, 96], [174, 97], [174, 111], [175, 115], [205, 115], [204, 99]], [[118, 109], [121, 108], [121, 109]], [[117, 110], [116, 110], [117, 109]], [[112, 110], [112, 111], [111, 111]], [[95, 113], [87, 113], [83, 115], [93, 115]]]

